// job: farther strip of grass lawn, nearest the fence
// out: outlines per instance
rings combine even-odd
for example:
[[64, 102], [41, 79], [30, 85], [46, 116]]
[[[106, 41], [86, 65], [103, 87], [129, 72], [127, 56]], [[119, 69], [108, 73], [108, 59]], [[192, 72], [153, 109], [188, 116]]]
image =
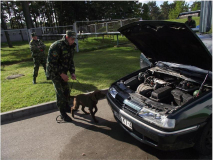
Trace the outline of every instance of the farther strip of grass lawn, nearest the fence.
[[[50, 45], [54, 42], [44, 41], [46, 45], [45, 54], [47, 55]], [[95, 49], [112, 47], [116, 45], [117, 38], [114, 36], [114, 39], [105, 36], [102, 37], [89, 37], [86, 40], [79, 40], [79, 50], [80, 52], [92, 51]], [[119, 42], [127, 42], [125, 37], [119, 36]], [[12, 42], [13, 48], [9, 48], [7, 43], [1, 43], [1, 64], [13, 64], [17, 62], [32, 60], [31, 52], [28, 42]]]

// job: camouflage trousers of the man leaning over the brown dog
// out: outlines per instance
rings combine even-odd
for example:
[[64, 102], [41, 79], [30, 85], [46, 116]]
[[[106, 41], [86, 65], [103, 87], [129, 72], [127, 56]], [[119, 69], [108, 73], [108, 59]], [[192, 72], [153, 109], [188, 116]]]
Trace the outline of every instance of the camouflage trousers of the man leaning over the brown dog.
[[56, 104], [58, 109], [66, 109], [69, 105], [70, 88], [67, 82], [62, 79], [52, 80], [55, 93], [56, 93]]

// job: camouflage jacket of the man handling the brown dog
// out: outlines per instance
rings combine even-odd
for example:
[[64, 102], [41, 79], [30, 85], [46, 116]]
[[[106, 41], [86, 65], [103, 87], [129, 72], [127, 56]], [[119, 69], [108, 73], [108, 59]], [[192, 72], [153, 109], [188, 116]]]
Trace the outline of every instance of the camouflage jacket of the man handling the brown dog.
[[74, 51], [75, 45], [69, 45], [65, 36], [56, 42], [54, 42], [48, 51], [47, 56], [47, 71], [46, 76], [55, 79], [60, 78], [60, 74], [75, 73], [74, 66]]

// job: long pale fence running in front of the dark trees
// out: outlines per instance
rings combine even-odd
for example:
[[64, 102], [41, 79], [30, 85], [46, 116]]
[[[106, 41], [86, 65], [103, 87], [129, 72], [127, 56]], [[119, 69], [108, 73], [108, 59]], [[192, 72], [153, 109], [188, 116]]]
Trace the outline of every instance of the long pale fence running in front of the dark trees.
[[[9, 34], [10, 40], [14, 41], [30, 41], [31, 33], [36, 34], [41, 38], [45, 35], [65, 34], [66, 30], [73, 30], [76, 33], [103, 33], [103, 32], [116, 32], [118, 28], [138, 21], [139, 18], [130, 19], [117, 19], [117, 20], [94, 20], [94, 21], [76, 21], [73, 25], [68, 26], [55, 26], [55, 27], [39, 27], [31, 29], [13, 29], [6, 30]], [[5, 30], [1, 30], [1, 42], [7, 42]]]

